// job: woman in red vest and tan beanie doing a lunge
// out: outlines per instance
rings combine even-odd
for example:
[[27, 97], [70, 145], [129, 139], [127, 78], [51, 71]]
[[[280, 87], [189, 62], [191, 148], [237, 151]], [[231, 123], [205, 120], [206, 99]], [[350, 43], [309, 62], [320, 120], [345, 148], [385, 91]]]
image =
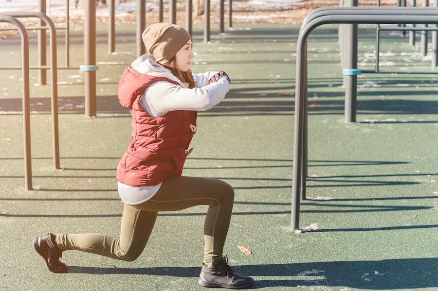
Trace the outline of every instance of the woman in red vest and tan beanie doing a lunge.
[[51, 272], [67, 271], [62, 252], [83, 252], [133, 261], [141, 255], [158, 211], [209, 205], [204, 223], [204, 259], [198, 283], [242, 289], [253, 278], [234, 272], [222, 257], [230, 224], [234, 189], [211, 178], [183, 177], [185, 158], [197, 130], [197, 111], [218, 104], [230, 88], [223, 71], [192, 74], [190, 34], [169, 23], [143, 32], [149, 54], [136, 59], [120, 79], [118, 99], [132, 109], [132, 142], [117, 168], [124, 202], [120, 238], [104, 234], [47, 234], [34, 247]]

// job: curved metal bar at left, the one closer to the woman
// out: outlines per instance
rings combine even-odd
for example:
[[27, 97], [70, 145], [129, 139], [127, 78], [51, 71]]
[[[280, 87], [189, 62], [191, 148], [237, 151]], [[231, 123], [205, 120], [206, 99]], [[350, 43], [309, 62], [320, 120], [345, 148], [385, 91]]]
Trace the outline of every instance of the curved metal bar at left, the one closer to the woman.
[[56, 61], [56, 28], [52, 19], [41, 12], [14, 12], [2, 13], [10, 17], [37, 17], [42, 19], [50, 31], [50, 71], [51, 71], [51, 103], [52, 103], [52, 148], [53, 164], [55, 169], [59, 166], [59, 127], [58, 127], [58, 85], [57, 85], [57, 61]]

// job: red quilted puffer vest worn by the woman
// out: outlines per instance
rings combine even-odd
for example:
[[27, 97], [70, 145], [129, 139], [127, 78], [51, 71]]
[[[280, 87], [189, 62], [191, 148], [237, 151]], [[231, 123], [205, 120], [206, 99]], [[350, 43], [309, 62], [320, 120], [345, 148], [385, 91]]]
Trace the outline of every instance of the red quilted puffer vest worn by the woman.
[[[139, 104], [146, 88], [158, 81], [177, 82], [125, 69], [118, 87], [119, 102], [132, 108], [132, 142], [117, 167], [117, 181], [130, 186], [157, 185], [164, 179], [181, 176], [196, 126], [197, 111], [169, 111], [151, 117]], [[192, 125], [192, 126], [190, 126]], [[196, 127], [195, 127], [196, 131]]]

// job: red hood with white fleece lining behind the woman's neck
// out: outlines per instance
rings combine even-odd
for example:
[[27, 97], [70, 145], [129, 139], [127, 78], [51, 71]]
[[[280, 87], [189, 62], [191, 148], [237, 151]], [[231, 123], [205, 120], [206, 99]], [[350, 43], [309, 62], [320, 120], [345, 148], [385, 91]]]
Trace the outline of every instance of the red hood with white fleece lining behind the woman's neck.
[[146, 53], [133, 61], [120, 78], [117, 97], [124, 107], [132, 108], [132, 104], [137, 99], [137, 96], [143, 95], [146, 88], [155, 83], [145, 84], [144, 79], [148, 78], [148, 76], [170, 79], [183, 88], [188, 88], [189, 86], [188, 83], [183, 83], [172, 74], [169, 69], [160, 65], [152, 54]]

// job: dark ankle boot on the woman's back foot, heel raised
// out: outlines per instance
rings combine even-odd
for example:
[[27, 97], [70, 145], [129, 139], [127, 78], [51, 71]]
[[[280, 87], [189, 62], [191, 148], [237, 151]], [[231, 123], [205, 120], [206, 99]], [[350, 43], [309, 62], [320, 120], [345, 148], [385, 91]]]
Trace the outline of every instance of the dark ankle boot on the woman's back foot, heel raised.
[[44, 259], [50, 272], [67, 272], [67, 265], [59, 260], [62, 257], [62, 251], [58, 248], [53, 234], [48, 233], [44, 236], [35, 237], [34, 247], [37, 253]]

